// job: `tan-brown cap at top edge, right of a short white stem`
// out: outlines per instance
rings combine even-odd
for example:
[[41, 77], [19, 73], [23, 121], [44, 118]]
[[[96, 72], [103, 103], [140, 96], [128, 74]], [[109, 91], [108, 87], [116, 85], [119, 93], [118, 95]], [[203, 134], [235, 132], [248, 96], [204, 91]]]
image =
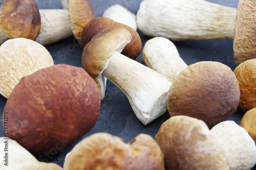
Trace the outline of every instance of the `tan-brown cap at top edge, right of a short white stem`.
[[95, 18], [94, 10], [90, 0], [69, 0], [69, 17], [74, 37], [81, 42], [81, 34], [84, 26]]

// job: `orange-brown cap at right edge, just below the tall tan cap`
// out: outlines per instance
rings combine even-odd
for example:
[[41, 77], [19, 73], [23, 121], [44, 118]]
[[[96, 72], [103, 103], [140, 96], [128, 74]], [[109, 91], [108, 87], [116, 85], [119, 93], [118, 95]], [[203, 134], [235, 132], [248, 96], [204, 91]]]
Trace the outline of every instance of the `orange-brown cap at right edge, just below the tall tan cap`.
[[241, 91], [239, 109], [247, 112], [256, 107], [256, 59], [250, 59], [234, 69]]

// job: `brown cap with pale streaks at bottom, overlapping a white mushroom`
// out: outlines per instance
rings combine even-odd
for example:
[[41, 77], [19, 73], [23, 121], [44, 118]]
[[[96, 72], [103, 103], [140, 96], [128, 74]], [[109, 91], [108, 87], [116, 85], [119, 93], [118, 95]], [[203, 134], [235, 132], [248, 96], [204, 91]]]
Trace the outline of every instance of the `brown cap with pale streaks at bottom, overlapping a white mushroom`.
[[207, 125], [189, 116], [166, 120], [155, 136], [168, 169], [229, 169], [218, 138]]

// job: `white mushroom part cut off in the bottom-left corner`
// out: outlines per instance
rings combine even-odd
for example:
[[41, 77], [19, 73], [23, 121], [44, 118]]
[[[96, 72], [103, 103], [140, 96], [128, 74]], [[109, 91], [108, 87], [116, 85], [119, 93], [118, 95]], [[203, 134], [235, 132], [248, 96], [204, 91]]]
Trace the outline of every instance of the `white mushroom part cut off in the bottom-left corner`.
[[2, 149], [2, 161], [0, 163], [1, 170], [19, 169], [22, 166], [32, 165], [38, 162], [31, 153], [15, 140], [7, 137], [0, 137], [0, 141], [0, 147]]

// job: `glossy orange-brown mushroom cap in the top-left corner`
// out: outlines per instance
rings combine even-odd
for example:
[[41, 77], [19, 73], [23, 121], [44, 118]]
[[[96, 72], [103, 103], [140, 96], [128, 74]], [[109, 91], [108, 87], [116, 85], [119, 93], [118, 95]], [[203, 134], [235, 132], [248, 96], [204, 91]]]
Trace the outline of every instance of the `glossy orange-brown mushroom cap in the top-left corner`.
[[40, 13], [34, 0], [5, 0], [0, 9], [0, 29], [11, 38], [35, 40], [41, 26]]

